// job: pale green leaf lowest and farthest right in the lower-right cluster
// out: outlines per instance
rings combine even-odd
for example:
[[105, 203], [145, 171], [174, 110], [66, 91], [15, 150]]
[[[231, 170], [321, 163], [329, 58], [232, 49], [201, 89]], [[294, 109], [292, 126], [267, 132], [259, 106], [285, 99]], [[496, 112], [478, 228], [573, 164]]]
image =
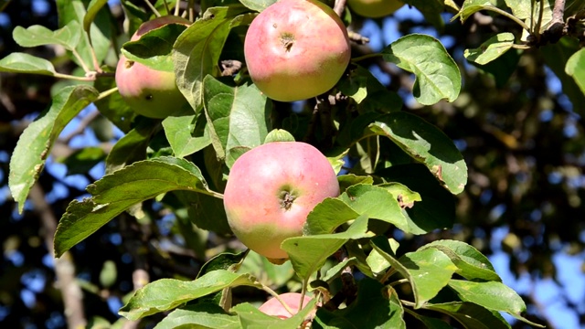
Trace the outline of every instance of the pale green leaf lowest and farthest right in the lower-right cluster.
[[509, 313], [516, 319], [531, 324], [520, 315], [527, 310], [524, 300], [502, 282], [452, 280], [449, 287], [457, 292], [463, 302], [473, 302], [488, 310]]

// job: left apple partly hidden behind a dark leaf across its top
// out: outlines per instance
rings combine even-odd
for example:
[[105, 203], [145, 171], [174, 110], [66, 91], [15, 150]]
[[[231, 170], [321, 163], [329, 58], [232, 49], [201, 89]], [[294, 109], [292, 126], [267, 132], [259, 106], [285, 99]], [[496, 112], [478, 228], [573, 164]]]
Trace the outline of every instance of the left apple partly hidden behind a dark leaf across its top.
[[[168, 24], [191, 24], [179, 16], [161, 16], [138, 27], [131, 41], [140, 39], [146, 32]], [[176, 86], [175, 72], [151, 69], [143, 64], [120, 56], [116, 67], [116, 85], [122, 99], [138, 114], [163, 119], [186, 103]]]

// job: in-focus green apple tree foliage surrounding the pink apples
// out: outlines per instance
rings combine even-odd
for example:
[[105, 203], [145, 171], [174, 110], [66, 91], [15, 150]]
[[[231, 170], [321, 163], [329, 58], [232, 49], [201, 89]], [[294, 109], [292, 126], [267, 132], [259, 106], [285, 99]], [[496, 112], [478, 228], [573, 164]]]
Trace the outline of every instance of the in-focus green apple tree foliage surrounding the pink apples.
[[[460, 96], [462, 74], [439, 39], [409, 34], [379, 53], [355, 55], [333, 90], [305, 101], [303, 111], [292, 111], [289, 104], [262, 95], [245, 67], [233, 69], [245, 63], [246, 28], [271, 1], [203, 0], [194, 6], [193, 1], [158, 0], [153, 7], [159, 14], [183, 14], [187, 8], [193, 24], [157, 28], [126, 43], [154, 14], [137, 2], [121, 3], [128, 23], [122, 36], [112, 26], [105, 0], [58, 0], [58, 29], [14, 29], [14, 40], [23, 48], [63, 48], [79, 67], [73, 73], [61, 73], [52, 61], [31, 52], [0, 59], [1, 71], [65, 81], [12, 154], [9, 186], [19, 211], [59, 134], [80, 111], [94, 104], [124, 133], [103, 154], [106, 175], [87, 186], [87, 197], [72, 200], [60, 218], [54, 238], [57, 258], [124, 214], [144, 218], [143, 204], [152, 199], [186, 218], [186, 224], [229, 237], [221, 200], [229, 168], [262, 143], [291, 138], [313, 143], [330, 159], [342, 187], [340, 196], [314, 207], [302, 237], [282, 242], [289, 262], [273, 265], [243, 248], [207, 255], [197, 279], [160, 279], [134, 292], [120, 309], [125, 319], [165, 313], [156, 328], [297, 328], [314, 303], [280, 320], [231, 299], [236, 288], [275, 294], [288, 287], [312, 293], [322, 303], [312, 320], [315, 328], [402, 328], [405, 317], [429, 328], [509, 328], [501, 313], [539, 326], [524, 317], [523, 299], [502, 283], [478, 249], [454, 239], [402, 249], [393, 238], [452, 228], [457, 220], [453, 196], [465, 189], [468, 169], [452, 139], [433, 122], [405, 111], [398, 90], [382, 85], [362, 63], [376, 58], [410, 72], [411, 96], [421, 105], [453, 102]], [[571, 37], [585, 17], [585, 5], [578, 1], [560, 2], [564, 16], [554, 1], [544, 0], [405, 3], [437, 29], [445, 25], [445, 12], [461, 24], [475, 13], [515, 22], [479, 48], [464, 50], [469, 62], [485, 68], [508, 52]], [[355, 17], [346, 9], [342, 18], [349, 26]], [[553, 70], [566, 72], [566, 93], [571, 101], [580, 100], [585, 52], [570, 39], [561, 41], [574, 44], [575, 51]], [[112, 52], [174, 70], [188, 106], [164, 120], [135, 115], [115, 89], [107, 60]], [[189, 239], [194, 227], [186, 224], [181, 234]]]

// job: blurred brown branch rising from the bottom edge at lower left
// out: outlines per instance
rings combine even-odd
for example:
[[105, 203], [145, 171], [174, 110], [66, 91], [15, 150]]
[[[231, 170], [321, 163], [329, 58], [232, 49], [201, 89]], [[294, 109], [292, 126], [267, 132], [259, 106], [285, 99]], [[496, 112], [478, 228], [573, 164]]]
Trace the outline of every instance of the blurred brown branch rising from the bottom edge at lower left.
[[[45, 200], [45, 192], [37, 182], [30, 190], [30, 199], [35, 205], [35, 212], [41, 220], [45, 245], [51, 257], [55, 257], [53, 248], [55, 231], [57, 230], [58, 220], [53, 213], [53, 209]], [[84, 328], [87, 324], [85, 313], [83, 311], [83, 294], [81, 288], [75, 279], [75, 265], [69, 252], [65, 252], [55, 261], [55, 276], [57, 277], [56, 286], [63, 296], [64, 313], [69, 328]]]

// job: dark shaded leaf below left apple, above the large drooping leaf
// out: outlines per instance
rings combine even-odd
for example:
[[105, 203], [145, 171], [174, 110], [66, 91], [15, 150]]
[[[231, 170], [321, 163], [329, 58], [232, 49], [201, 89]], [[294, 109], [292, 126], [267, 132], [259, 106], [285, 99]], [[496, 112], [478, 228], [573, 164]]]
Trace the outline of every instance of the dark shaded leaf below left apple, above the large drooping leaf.
[[136, 127], [116, 142], [106, 158], [106, 174], [146, 158], [146, 148], [158, 129], [154, 120], [141, 118]]

